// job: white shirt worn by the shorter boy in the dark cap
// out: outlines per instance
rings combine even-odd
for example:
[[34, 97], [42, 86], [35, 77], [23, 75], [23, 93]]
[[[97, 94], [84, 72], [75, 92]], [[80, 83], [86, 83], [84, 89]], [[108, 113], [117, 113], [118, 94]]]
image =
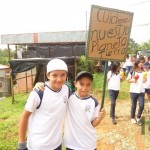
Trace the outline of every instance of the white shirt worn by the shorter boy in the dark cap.
[[64, 128], [64, 144], [74, 150], [94, 150], [96, 130], [91, 121], [98, 117], [99, 105], [89, 96], [80, 99], [76, 94], [70, 96]]

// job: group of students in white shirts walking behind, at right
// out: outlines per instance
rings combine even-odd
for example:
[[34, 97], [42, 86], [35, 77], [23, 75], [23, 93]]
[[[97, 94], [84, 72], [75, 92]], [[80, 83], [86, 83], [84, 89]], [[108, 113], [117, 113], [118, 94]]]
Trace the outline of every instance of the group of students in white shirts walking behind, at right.
[[[150, 61], [145, 58], [141, 56], [138, 59], [134, 59], [134, 62], [130, 60], [130, 66], [127, 66], [126, 72], [124, 68], [121, 68], [120, 62], [111, 63], [110, 70], [107, 74], [107, 81], [111, 100], [110, 117], [112, 118], [113, 124], [116, 124], [115, 107], [120, 91], [120, 82], [126, 80], [130, 83], [131, 123], [142, 125], [141, 115], [144, 110], [145, 94], [147, 95], [148, 106], [150, 107]], [[129, 59], [128, 56], [127, 59]], [[127, 62], [129, 65], [129, 60]], [[139, 109], [136, 114], [138, 102]]]

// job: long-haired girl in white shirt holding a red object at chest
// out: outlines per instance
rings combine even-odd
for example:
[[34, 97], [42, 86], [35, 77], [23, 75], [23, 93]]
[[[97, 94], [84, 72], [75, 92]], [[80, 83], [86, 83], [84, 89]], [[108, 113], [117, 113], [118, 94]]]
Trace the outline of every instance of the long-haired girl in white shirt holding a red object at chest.
[[[144, 110], [144, 83], [147, 81], [146, 78], [143, 77], [143, 64], [144, 58], [138, 58], [134, 63], [134, 68], [131, 73], [129, 73], [127, 77], [127, 81], [130, 83], [130, 98], [131, 98], [131, 123], [142, 125], [141, 115]], [[139, 101], [139, 110], [136, 114], [136, 106], [137, 101]]]

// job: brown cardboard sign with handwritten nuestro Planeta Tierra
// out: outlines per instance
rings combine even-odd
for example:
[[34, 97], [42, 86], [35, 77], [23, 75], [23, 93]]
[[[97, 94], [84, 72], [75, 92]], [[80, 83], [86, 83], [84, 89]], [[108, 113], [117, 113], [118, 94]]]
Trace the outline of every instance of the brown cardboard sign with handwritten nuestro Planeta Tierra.
[[88, 57], [124, 60], [133, 13], [92, 6], [88, 34]]

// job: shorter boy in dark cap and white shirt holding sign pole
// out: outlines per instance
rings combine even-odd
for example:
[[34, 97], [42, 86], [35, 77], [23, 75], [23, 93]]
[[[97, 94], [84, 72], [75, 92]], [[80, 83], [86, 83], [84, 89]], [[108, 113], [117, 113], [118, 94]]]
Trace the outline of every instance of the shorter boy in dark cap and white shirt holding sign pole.
[[97, 99], [90, 95], [93, 75], [82, 71], [74, 82], [76, 91], [69, 97], [64, 128], [66, 150], [96, 149], [96, 130], [105, 117]]

